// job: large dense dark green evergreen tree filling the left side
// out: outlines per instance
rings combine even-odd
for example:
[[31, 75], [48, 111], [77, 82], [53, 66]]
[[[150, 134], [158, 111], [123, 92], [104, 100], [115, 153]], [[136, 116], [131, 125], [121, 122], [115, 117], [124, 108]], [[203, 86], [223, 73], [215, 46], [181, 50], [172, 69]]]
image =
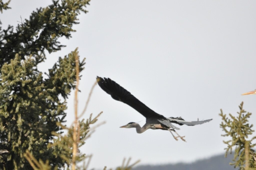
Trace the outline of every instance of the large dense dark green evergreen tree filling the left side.
[[[1, 12], [9, 8], [9, 2], [0, 0]], [[0, 169], [32, 169], [24, 157], [26, 150], [36, 160], [48, 160], [59, 169], [72, 157], [72, 150], [56, 144], [64, 146], [65, 141], [54, 138], [52, 132], [61, 134], [64, 128], [61, 123], [65, 122], [66, 99], [76, 87], [77, 49], [59, 58], [47, 78], [37, 66], [46, 60], [46, 50], [51, 53], [64, 47], [58, 38], [71, 38], [75, 31], [72, 26], [78, 24], [80, 12], [87, 12], [89, 0], [52, 2], [32, 12], [15, 30], [13, 26], [6, 30], [0, 27], [0, 150], [8, 151], [0, 154]], [[78, 63], [80, 72], [85, 62]], [[79, 123], [83, 139], [88, 132], [83, 128], [89, 127], [83, 121]]]

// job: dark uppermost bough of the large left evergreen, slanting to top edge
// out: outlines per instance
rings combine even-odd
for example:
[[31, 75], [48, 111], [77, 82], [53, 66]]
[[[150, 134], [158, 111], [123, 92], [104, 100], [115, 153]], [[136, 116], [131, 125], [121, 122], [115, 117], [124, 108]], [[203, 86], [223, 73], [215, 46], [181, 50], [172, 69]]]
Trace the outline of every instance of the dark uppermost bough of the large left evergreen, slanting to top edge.
[[[0, 1], [0, 10], [8, 9], [10, 1]], [[53, 4], [46, 8], [37, 8], [29, 19], [21, 21], [14, 30], [8, 26], [6, 30], [0, 28], [0, 68], [4, 63], [10, 62], [18, 53], [21, 59], [34, 55], [36, 62], [45, 60], [45, 50], [49, 53], [61, 50], [62, 45], [58, 38], [71, 38], [74, 24], [79, 24], [80, 12], [87, 13], [85, 9], [90, 0], [53, 0]]]

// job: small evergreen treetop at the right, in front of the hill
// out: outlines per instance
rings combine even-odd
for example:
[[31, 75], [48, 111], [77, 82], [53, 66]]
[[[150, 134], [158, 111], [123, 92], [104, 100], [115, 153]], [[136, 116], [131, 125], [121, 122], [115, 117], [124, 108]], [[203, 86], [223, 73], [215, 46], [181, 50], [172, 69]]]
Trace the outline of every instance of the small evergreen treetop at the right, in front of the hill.
[[227, 145], [225, 157], [228, 152], [232, 153], [232, 147], [235, 146], [234, 159], [230, 165], [234, 165], [235, 168], [238, 167], [240, 170], [255, 170], [256, 154], [253, 148], [256, 143], [253, 143], [253, 140], [256, 139], [256, 136], [248, 139], [249, 135], [254, 132], [252, 130], [253, 124], [248, 123], [252, 113], [246, 112], [243, 109], [243, 104], [243, 102], [240, 104], [240, 112], [237, 112], [237, 116], [229, 114], [231, 119], [220, 110], [219, 115], [222, 117], [220, 128], [225, 132], [222, 136], [231, 137], [230, 140], [223, 141]]

